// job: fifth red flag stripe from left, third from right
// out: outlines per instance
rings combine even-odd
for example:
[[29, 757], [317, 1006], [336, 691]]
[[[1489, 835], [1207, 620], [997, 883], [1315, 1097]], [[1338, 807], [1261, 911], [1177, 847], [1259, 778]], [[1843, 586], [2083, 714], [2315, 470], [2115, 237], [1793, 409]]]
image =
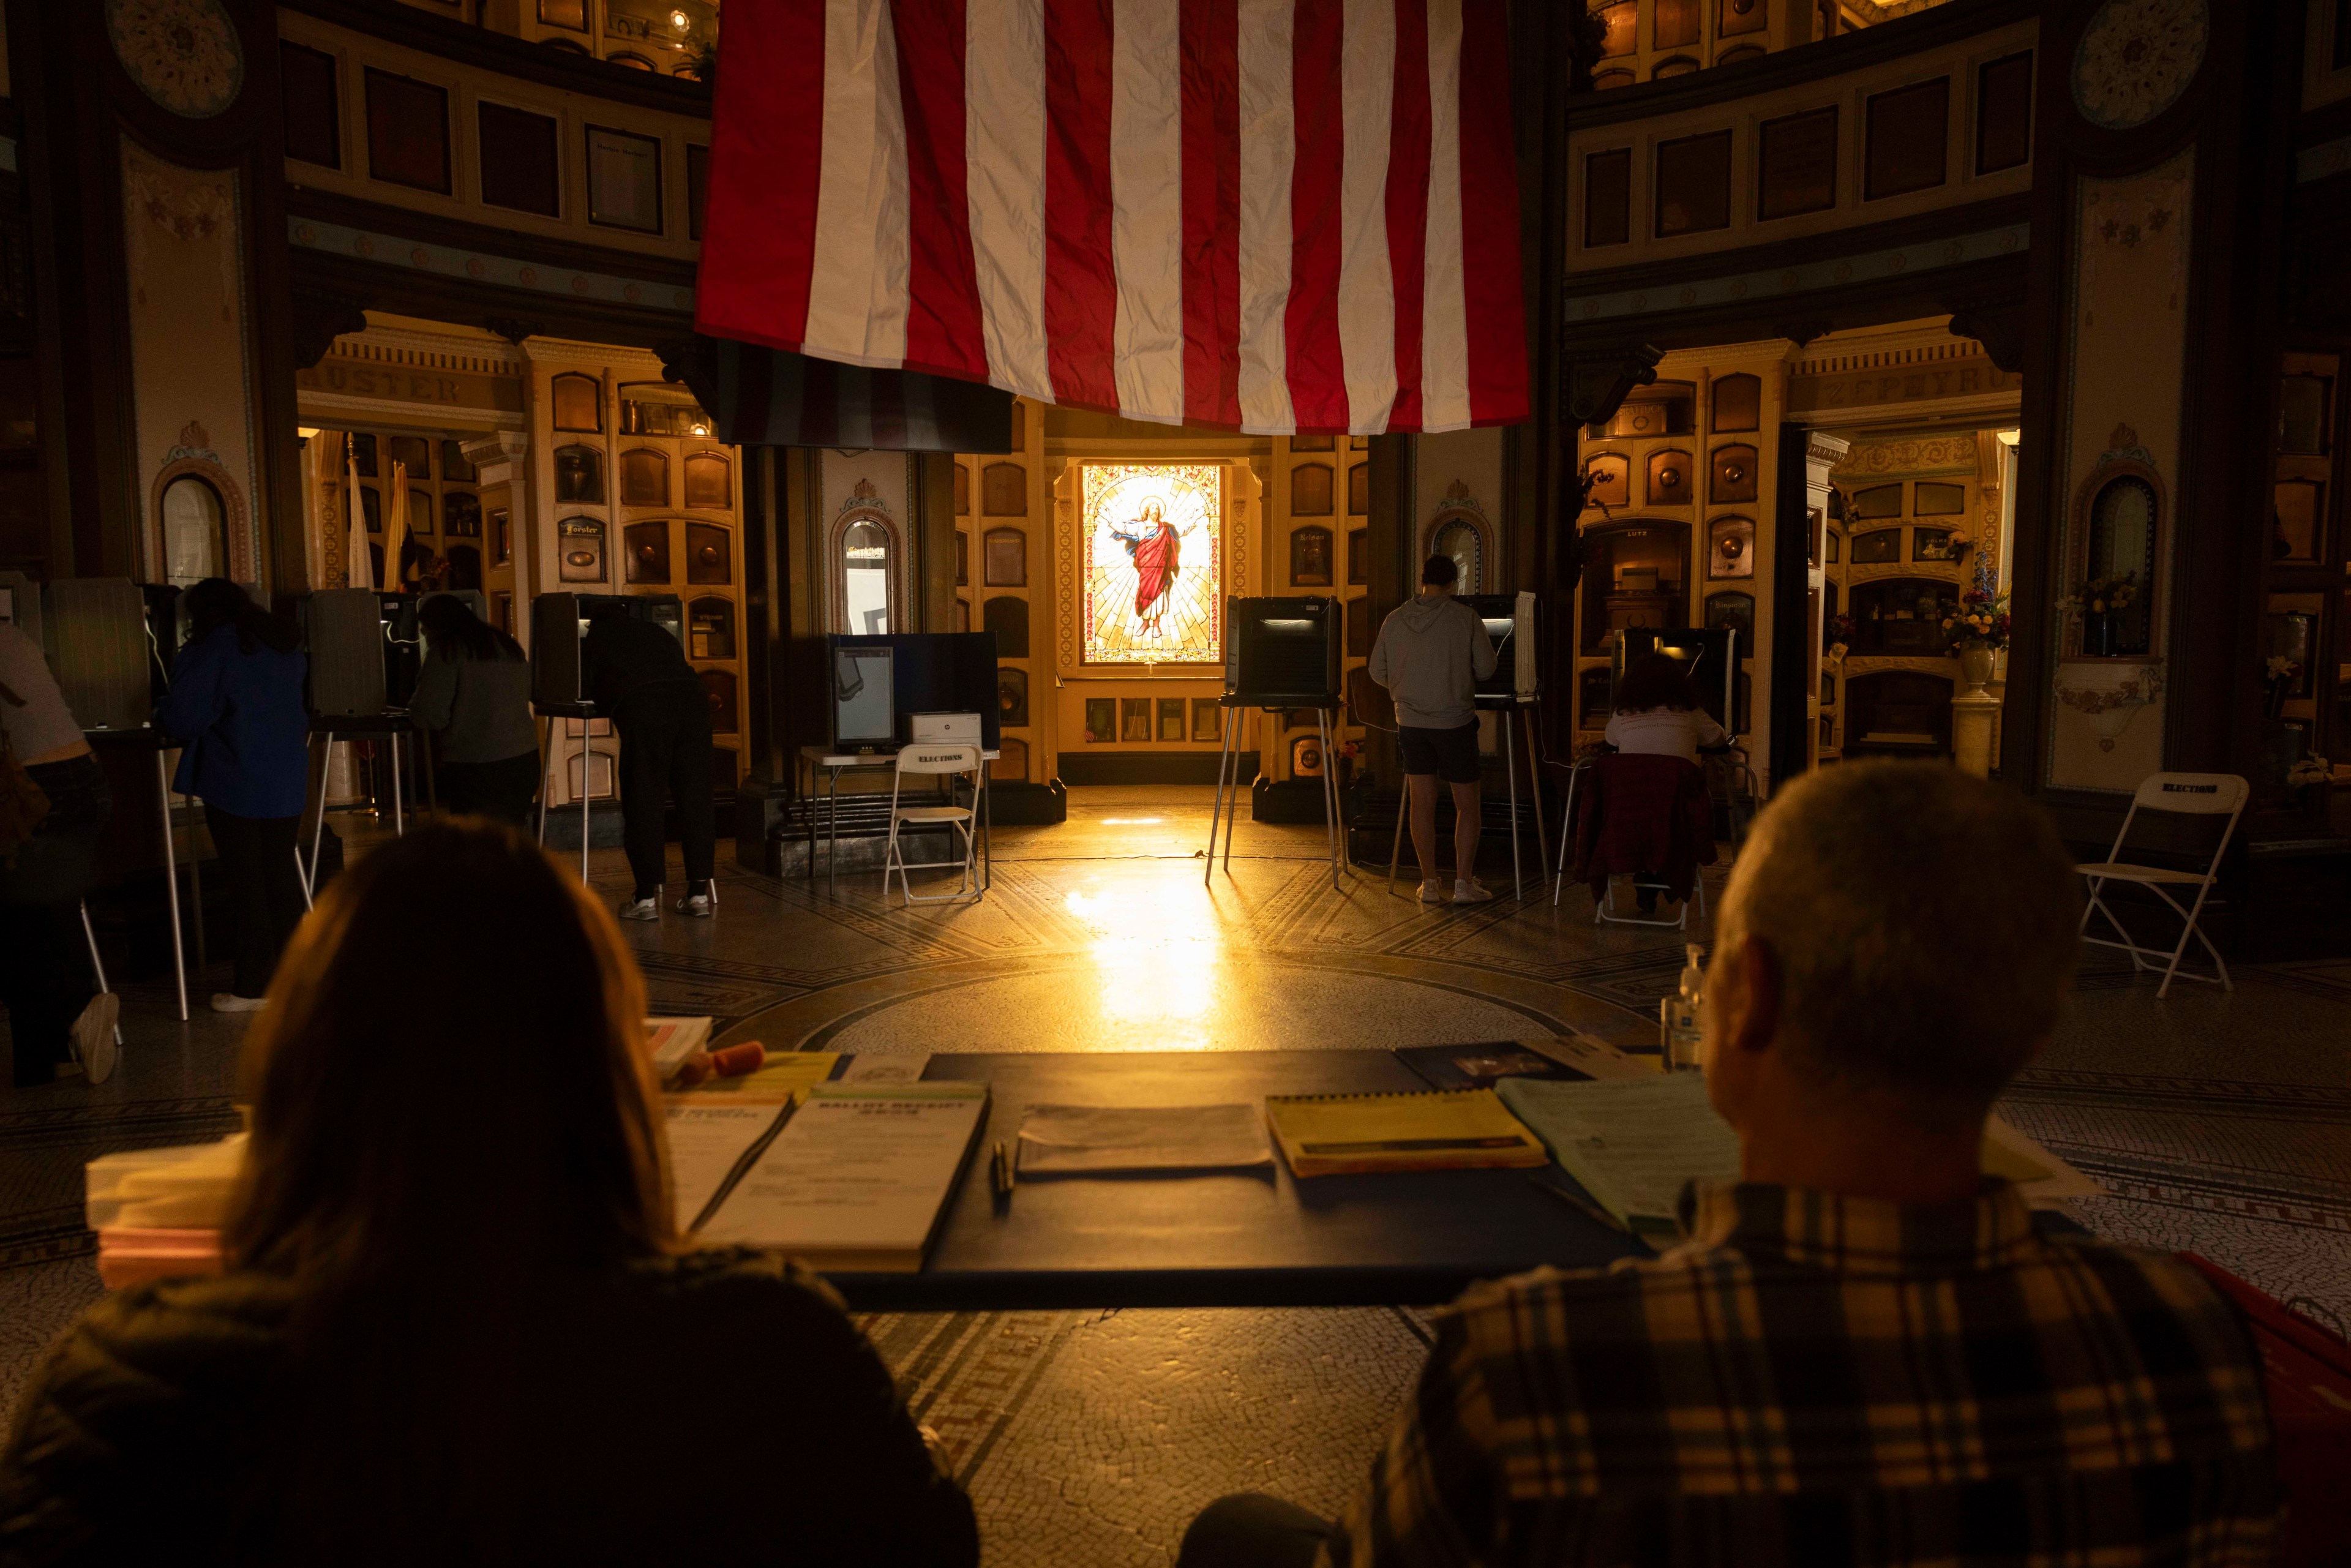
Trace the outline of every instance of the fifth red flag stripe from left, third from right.
[[1340, 181], [1347, 172], [1340, 52], [1347, 26], [1338, 0], [1300, 5], [1291, 40], [1291, 414], [1298, 430], [1347, 428], [1347, 362], [1338, 341]]

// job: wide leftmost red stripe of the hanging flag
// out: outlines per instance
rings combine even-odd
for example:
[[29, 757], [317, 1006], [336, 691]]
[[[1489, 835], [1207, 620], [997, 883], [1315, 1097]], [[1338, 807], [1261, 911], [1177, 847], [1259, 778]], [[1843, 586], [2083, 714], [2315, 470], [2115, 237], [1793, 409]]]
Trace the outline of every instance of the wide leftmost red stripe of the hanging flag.
[[799, 348], [825, 169], [825, 7], [745, 5], [726, 24], [694, 324]]

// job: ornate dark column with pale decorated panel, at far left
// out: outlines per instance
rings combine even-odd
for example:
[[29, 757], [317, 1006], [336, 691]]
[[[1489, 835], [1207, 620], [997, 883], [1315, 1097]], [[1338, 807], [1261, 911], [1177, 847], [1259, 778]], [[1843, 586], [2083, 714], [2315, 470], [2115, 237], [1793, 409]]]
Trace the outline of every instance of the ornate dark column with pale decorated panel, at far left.
[[14, 0], [7, 24], [54, 571], [160, 581], [162, 494], [193, 475], [226, 571], [306, 592], [275, 7]]

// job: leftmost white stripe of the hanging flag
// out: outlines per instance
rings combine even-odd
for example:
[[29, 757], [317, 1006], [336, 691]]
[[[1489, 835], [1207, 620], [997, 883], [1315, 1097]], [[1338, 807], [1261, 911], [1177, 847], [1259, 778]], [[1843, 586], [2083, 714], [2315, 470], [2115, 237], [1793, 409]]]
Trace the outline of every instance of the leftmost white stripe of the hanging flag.
[[898, 38], [886, 0], [825, 5], [823, 160], [802, 350], [896, 369], [905, 362], [910, 247]]

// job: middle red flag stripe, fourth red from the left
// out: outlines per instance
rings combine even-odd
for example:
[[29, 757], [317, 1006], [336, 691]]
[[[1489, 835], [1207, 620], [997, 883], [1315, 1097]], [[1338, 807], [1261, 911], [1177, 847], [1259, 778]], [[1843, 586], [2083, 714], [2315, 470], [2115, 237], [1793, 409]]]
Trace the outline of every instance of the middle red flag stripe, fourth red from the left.
[[1241, 428], [1241, 7], [1183, 7], [1183, 407]]

